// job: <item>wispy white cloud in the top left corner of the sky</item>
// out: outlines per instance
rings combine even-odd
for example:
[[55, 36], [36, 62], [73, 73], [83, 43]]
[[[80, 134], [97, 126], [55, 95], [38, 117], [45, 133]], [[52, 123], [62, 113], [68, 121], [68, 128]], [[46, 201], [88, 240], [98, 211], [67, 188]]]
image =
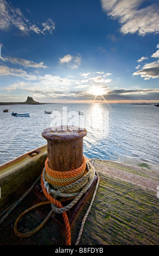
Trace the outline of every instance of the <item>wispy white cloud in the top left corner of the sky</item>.
[[19, 8], [13, 7], [11, 3], [7, 3], [5, 0], [0, 0], [0, 29], [8, 31], [11, 27], [25, 33], [52, 34], [55, 24], [52, 19], [47, 19], [41, 25], [33, 24], [26, 19]]

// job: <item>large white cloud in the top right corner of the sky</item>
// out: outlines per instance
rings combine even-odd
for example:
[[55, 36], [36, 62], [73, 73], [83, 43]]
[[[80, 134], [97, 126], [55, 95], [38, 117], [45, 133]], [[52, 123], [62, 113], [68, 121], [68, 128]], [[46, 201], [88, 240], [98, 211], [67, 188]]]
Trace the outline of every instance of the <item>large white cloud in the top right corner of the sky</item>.
[[[158, 4], [141, 7], [144, 0], [101, 0], [102, 9], [108, 16], [118, 19], [121, 33], [159, 33]], [[145, 3], [146, 4], [146, 3]]]

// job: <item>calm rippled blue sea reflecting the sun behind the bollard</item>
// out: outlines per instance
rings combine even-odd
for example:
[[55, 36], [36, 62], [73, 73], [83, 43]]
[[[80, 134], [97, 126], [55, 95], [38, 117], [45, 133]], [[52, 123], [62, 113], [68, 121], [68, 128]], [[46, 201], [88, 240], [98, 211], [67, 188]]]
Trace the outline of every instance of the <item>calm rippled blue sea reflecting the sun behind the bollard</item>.
[[[3, 113], [9, 108], [8, 113]], [[45, 114], [44, 111], [53, 111]], [[84, 115], [79, 115], [84, 111]], [[29, 113], [14, 117], [12, 112]], [[159, 164], [159, 108], [131, 104], [47, 104], [0, 106], [0, 164], [47, 143], [41, 132], [60, 124], [87, 129], [86, 157], [118, 160], [134, 157]]]

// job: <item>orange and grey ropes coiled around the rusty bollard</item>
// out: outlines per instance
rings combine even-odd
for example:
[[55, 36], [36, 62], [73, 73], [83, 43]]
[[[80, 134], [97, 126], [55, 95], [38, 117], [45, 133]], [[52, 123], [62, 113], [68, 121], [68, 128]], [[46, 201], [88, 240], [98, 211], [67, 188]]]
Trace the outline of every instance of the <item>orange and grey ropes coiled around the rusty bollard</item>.
[[[63, 220], [65, 223], [66, 229], [66, 245], [71, 245], [71, 229], [69, 224], [69, 219], [66, 214], [66, 211], [72, 208], [77, 201], [82, 197], [82, 195], [88, 190], [91, 186], [94, 177], [95, 177], [95, 169], [91, 165], [91, 163], [85, 159], [83, 156], [83, 163], [82, 165], [74, 170], [69, 170], [66, 172], [58, 172], [56, 170], [52, 170], [48, 167], [48, 159], [45, 162], [45, 167], [42, 170], [41, 174], [41, 187], [42, 191], [44, 192], [48, 201], [36, 204], [31, 208], [27, 209], [26, 211], [22, 212], [22, 214], [17, 218], [14, 225], [14, 232], [19, 237], [28, 237], [38, 231], [48, 220], [48, 218], [52, 215], [53, 212], [63, 215]], [[97, 175], [98, 176], [98, 175]], [[98, 177], [99, 178], [99, 177]], [[50, 182], [51, 181], [51, 182]], [[70, 183], [71, 181], [71, 183]], [[94, 192], [93, 199], [91, 200], [89, 209], [83, 218], [81, 230], [83, 230], [84, 222], [89, 214], [91, 205], [93, 204], [95, 193], [97, 190], [97, 186], [99, 181], [97, 182], [96, 189]], [[69, 199], [71, 202], [63, 206], [62, 203], [59, 202], [56, 198], [61, 198], [62, 200]], [[20, 218], [25, 215], [28, 211], [42, 205], [51, 203], [52, 209], [50, 213], [47, 215], [46, 219], [34, 230], [28, 231], [27, 233], [20, 233], [17, 230], [17, 223], [19, 222]], [[81, 237], [82, 231], [79, 231], [78, 239], [76, 241], [76, 245], [79, 242]]]

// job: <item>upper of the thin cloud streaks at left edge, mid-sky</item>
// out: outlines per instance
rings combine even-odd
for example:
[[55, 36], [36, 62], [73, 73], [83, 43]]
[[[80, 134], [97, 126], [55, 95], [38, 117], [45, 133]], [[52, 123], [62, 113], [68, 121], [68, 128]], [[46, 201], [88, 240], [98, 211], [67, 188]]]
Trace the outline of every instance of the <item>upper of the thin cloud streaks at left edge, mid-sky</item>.
[[24, 66], [25, 68], [44, 68], [44, 69], [47, 68], [47, 66], [44, 65], [43, 62], [35, 63], [35, 62], [32, 62], [32, 60], [26, 60], [26, 59], [21, 59], [16, 57], [7, 57], [7, 58], [0, 57], [0, 60], [3, 60], [4, 62], [10, 62], [13, 64], [18, 64], [18, 65]]

